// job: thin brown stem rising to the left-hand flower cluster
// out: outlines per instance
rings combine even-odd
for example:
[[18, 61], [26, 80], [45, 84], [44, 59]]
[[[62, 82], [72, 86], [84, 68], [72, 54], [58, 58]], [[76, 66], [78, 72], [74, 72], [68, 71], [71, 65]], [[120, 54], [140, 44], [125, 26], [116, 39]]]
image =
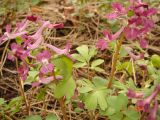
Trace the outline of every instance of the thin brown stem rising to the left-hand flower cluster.
[[[18, 70], [18, 60], [17, 60], [17, 58], [16, 58], [16, 68]], [[24, 93], [23, 81], [22, 81], [22, 79], [20, 78], [19, 75], [18, 75], [18, 78], [19, 78], [18, 80], [19, 80], [19, 83], [20, 83], [20, 92], [21, 92], [21, 95], [22, 95], [22, 97], [24, 99], [24, 102], [25, 102], [25, 105], [26, 105], [27, 114], [30, 115], [30, 106], [28, 104], [27, 98], [26, 98], [25, 93]]]

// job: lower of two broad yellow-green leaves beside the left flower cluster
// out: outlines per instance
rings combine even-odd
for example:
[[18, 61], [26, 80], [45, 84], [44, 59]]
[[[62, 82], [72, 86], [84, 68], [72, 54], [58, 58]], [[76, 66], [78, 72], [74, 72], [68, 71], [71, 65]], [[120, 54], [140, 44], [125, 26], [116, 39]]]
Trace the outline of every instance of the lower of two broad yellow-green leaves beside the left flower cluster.
[[55, 88], [55, 97], [61, 98], [66, 96], [67, 99], [70, 99], [74, 95], [75, 88], [76, 84], [72, 77], [66, 81], [61, 81]]

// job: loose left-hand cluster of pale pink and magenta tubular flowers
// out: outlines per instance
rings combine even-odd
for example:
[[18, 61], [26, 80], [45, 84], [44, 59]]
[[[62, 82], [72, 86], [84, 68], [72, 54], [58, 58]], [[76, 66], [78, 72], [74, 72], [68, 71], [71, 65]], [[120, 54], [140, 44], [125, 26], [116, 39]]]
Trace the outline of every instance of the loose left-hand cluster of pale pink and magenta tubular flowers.
[[[40, 26], [32, 35], [26, 30], [30, 22]], [[21, 23], [17, 23], [13, 32], [11, 32], [11, 26], [7, 25], [6, 32], [0, 38], [0, 45], [9, 40], [20, 39], [19, 42], [11, 43], [8, 59], [11, 61], [16, 59], [22, 61], [17, 69], [22, 80], [27, 79], [31, 68], [39, 66], [38, 81], [33, 82], [33, 86], [37, 86], [40, 83], [47, 84], [54, 79], [62, 79], [61, 76], [53, 76], [54, 65], [51, 63], [53, 53], [70, 57], [69, 50], [71, 46], [69, 44], [66, 45], [65, 49], [61, 50], [44, 42], [43, 31], [46, 28], [63, 28], [63, 24], [51, 24], [50, 21], [44, 21], [36, 16], [27, 16]], [[32, 54], [34, 51], [38, 51], [38, 53]]]

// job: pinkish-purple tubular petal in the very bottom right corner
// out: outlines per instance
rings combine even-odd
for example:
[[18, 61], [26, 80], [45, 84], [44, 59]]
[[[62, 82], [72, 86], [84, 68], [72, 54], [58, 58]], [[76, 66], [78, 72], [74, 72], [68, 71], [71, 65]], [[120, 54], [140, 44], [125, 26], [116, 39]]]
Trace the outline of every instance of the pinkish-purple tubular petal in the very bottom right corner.
[[158, 101], [155, 100], [154, 106], [150, 110], [150, 113], [149, 113], [147, 120], [156, 120], [157, 112], [158, 112]]

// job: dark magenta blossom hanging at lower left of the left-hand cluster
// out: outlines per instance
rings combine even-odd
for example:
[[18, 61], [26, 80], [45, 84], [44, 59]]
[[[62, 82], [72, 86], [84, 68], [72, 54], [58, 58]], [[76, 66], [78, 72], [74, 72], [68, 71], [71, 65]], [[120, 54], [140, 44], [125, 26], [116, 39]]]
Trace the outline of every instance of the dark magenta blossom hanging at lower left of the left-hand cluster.
[[22, 80], [27, 79], [29, 68], [26, 64], [23, 64], [22, 66], [20, 66], [17, 71]]

